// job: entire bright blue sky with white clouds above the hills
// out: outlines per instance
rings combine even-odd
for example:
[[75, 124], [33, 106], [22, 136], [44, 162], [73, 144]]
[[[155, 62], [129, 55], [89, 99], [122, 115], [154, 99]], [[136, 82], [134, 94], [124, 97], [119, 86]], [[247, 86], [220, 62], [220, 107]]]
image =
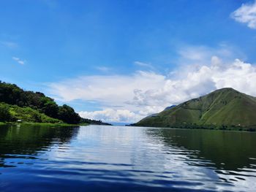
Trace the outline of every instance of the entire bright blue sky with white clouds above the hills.
[[[245, 84], [227, 80], [219, 85], [214, 76], [213, 85], [200, 77], [197, 86], [205, 86], [203, 91], [189, 92], [184, 82], [189, 89], [173, 96], [176, 100], [165, 96], [177, 92], [165, 91], [174, 82], [203, 66], [219, 76], [239, 59], [254, 72], [254, 2], [1, 1], [0, 77], [53, 96], [85, 117], [107, 121], [135, 121], [222, 86], [254, 94], [250, 85], [246, 90]], [[213, 72], [213, 61], [223, 70]]]

